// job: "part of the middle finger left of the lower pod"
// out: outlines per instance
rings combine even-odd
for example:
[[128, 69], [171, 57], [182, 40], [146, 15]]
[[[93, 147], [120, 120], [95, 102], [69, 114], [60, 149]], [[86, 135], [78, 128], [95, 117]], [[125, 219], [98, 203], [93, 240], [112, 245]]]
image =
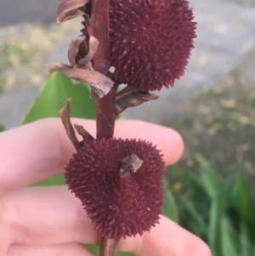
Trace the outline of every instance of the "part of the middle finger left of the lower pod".
[[82, 203], [65, 186], [23, 188], [5, 193], [1, 201], [14, 244], [99, 242]]

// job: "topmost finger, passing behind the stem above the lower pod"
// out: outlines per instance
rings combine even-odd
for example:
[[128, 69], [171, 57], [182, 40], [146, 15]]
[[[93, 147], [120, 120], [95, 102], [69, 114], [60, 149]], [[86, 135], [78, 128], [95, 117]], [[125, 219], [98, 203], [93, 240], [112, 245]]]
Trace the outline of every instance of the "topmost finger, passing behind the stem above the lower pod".
[[[73, 119], [95, 134], [95, 122]], [[118, 121], [116, 137], [150, 140], [164, 154], [167, 164], [176, 162], [184, 145], [170, 128], [148, 122]], [[0, 134], [0, 193], [31, 185], [63, 172], [75, 152], [59, 119], [44, 119]]]

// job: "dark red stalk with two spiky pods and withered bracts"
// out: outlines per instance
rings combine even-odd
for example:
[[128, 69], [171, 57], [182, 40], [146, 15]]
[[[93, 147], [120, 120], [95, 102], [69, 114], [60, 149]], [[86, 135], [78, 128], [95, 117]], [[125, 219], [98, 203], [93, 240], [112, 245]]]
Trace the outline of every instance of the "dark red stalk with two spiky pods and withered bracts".
[[[163, 204], [161, 152], [144, 140], [115, 139], [116, 116], [156, 100], [151, 91], [173, 87], [184, 75], [195, 22], [186, 0], [60, 0], [57, 22], [80, 15], [70, 64], [50, 67], [88, 84], [97, 102], [96, 138], [71, 124], [71, 100], [59, 116], [77, 149], [66, 182], [102, 237], [100, 255], [111, 256], [119, 239], [142, 236], [158, 224]], [[126, 87], [118, 90], [120, 84]]]

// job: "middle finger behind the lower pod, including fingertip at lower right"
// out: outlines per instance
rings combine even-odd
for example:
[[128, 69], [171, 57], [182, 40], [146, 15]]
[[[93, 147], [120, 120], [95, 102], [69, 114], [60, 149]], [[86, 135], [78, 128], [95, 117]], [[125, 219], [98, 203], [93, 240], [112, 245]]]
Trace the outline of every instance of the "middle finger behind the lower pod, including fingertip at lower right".
[[[99, 242], [81, 202], [64, 186], [24, 188], [3, 196], [11, 240], [23, 245], [66, 242]], [[137, 256], [210, 256], [207, 245], [170, 219], [161, 216], [160, 225], [144, 236], [122, 239], [121, 250]]]

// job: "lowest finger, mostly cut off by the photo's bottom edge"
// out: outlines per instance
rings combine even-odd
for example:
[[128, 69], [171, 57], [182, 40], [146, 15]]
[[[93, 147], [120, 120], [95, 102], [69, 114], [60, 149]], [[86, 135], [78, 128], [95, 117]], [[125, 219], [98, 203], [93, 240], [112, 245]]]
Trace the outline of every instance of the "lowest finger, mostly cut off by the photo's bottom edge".
[[81, 244], [57, 244], [52, 246], [22, 246], [13, 245], [6, 256], [94, 256]]

